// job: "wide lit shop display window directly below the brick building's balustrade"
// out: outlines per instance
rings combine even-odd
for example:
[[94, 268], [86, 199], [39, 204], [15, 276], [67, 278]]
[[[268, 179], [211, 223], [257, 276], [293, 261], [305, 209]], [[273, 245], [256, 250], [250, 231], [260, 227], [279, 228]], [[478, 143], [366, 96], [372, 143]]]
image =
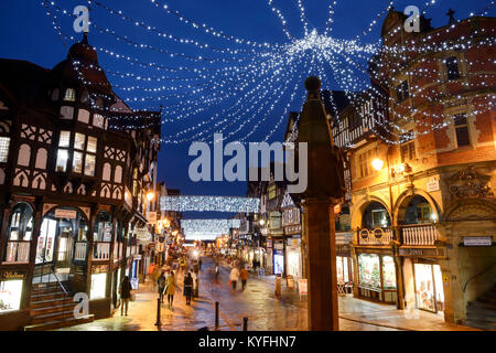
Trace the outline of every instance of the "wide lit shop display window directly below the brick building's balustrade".
[[391, 255], [358, 254], [358, 295], [385, 303], [397, 302], [396, 266]]

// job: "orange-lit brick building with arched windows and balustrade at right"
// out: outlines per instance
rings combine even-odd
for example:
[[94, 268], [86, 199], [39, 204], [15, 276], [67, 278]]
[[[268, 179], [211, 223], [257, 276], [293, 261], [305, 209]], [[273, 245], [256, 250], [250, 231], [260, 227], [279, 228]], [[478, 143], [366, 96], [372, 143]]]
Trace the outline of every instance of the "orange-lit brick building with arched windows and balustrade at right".
[[433, 29], [422, 18], [419, 33], [405, 20], [388, 13], [371, 89], [334, 117], [351, 161], [354, 293], [485, 328], [496, 278], [496, 19]]

